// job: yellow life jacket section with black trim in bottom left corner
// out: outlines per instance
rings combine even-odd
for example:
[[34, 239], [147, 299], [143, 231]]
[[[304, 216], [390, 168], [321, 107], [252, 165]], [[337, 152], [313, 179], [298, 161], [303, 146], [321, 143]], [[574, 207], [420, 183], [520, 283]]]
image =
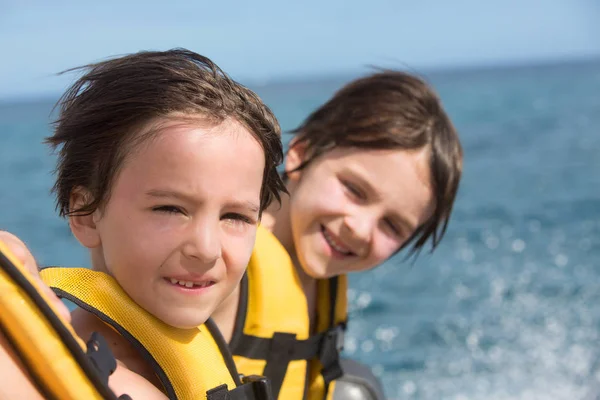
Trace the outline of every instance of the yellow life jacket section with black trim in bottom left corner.
[[[116, 368], [112, 354], [110, 370], [102, 371], [90, 357], [93, 346], [86, 354], [83, 341], [2, 242], [0, 267], [0, 330], [40, 393], [48, 399], [116, 400], [108, 387]], [[101, 339], [95, 340], [98, 346]]]

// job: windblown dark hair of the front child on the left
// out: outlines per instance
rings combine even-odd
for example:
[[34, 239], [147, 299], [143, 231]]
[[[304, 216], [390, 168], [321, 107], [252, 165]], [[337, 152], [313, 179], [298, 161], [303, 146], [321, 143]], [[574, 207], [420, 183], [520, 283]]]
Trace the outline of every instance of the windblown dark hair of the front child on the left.
[[[127, 155], [156, 133], [142, 128], [160, 118], [214, 125], [233, 118], [243, 124], [264, 151], [261, 212], [273, 199], [280, 201], [285, 186], [276, 167], [283, 149], [275, 116], [207, 57], [185, 49], [139, 52], [75, 70], [85, 74], [59, 100], [55, 131], [46, 139], [60, 148], [53, 191], [61, 216], [105, 205]], [[91, 199], [71, 209], [76, 188]]]

